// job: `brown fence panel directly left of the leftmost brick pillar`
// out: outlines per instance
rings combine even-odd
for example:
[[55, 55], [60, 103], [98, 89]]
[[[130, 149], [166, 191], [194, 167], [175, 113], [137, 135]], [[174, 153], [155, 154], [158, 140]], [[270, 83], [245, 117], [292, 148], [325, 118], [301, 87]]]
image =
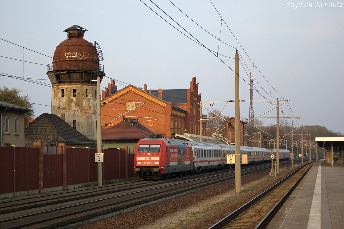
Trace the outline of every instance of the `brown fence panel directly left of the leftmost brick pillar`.
[[39, 189], [39, 148], [15, 147], [15, 191]]

